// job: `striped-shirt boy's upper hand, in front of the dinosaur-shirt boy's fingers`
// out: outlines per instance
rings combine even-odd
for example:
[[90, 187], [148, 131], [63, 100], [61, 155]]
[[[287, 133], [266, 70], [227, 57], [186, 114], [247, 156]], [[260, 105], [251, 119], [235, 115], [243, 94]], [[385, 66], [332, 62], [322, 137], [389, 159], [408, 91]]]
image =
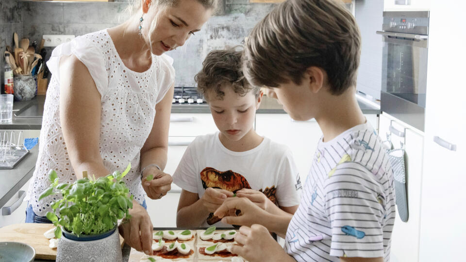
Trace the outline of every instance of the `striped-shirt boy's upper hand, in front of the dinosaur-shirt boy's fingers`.
[[[232, 215], [231, 210], [241, 210], [241, 213], [235, 216]], [[249, 198], [232, 197], [224, 200], [214, 215], [222, 218], [222, 222], [226, 224], [250, 226], [261, 223], [267, 212], [254, 204]]]

